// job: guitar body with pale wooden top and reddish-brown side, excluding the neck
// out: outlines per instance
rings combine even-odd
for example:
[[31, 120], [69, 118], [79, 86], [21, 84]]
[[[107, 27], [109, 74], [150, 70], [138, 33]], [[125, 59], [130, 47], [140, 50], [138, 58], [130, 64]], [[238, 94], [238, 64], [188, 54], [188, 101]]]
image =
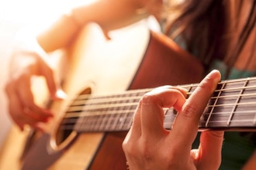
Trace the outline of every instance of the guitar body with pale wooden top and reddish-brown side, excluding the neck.
[[[89, 32], [89, 33], [88, 33]], [[138, 39], [140, 37], [140, 39]], [[107, 41], [98, 26], [88, 26], [67, 55], [64, 79], [67, 100], [54, 101], [54, 120], [28, 144], [27, 133], [12, 130], [2, 151], [0, 169], [126, 169], [122, 142], [126, 131], [60, 132], [59, 125], [78, 93], [111, 94], [124, 90], [199, 82], [202, 66], [174, 42], [144, 24], [122, 29]], [[12, 148], [15, 145], [15, 150]]]

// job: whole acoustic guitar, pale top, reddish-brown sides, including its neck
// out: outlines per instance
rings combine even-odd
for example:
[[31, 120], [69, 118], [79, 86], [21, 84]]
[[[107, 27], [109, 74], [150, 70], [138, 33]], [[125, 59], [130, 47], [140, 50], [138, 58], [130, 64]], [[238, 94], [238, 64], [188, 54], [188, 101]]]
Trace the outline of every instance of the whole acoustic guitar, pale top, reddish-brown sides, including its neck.
[[[67, 55], [67, 100], [50, 105], [57, 114], [42, 134], [12, 130], [1, 169], [126, 169], [122, 143], [140, 97], [165, 84], [188, 84], [182, 87], [189, 96], [203, 76], [195, 57], [141, 25], [108, 41], [98, 26], [88, 26]], [[177, 113], [164, 111], [164, 128], [171, 129]], [[220, 82], [199, 130], [255, 128], [256, 78]]]

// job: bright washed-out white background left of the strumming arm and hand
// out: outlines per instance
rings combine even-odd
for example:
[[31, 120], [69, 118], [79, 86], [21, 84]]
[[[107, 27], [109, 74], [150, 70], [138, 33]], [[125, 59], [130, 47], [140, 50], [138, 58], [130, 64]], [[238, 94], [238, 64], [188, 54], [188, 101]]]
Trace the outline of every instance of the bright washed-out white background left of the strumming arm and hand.
[[93, 0], [0, 0], [0, 148], [12, 121], [9, 119], [4, 86], [8, 78], [12, 43], [17, 32], [24, 27], [40, 31], [54, 19], [81, 3]]

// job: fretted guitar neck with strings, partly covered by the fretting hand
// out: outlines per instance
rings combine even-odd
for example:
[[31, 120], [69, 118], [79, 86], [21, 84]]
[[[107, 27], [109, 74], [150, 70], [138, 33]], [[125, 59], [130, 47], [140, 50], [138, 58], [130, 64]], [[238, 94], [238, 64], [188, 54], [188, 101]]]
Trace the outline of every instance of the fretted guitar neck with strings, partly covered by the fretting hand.
[[[189, 91], [198, 84], [180, 86]], [[128, 131], [140, 98], [151, 89], [129, 90], [109, 96], [81, 95], [68, 108], [63, 129], [78, 132]], [[164, 128], [171, 129], [178, 113], [164, 109]], [[256, 77], [221, 81], [199, 121], [199, 130], [256, 130]]]

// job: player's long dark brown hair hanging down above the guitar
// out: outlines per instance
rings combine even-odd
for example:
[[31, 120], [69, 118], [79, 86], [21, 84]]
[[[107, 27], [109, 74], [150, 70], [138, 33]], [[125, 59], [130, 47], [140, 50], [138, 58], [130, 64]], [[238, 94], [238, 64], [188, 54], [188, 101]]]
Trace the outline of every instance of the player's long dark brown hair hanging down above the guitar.
[[[227, 6], [230, 5], [229, 0], [183, 0], [176, 4], [169, 2], [164, 15], [172, 15], [172, 17], [166, 17], [168, 25], [165, 33], [171, 38], [182, 36], [187, 50], [198, 56], [206, 67], [213, 58], [220, 58], [228, 68], [231, 68], [255, 27], [255, 2], [255, 0], [251, 1], [251, 8], [248, 9], [250, 13], [240, 32], [235, 32], [234, 27], [230, 26], [232, 21], [230, 21], [230, 11], [227, 10]], [[236, 16], [243, 15], [240, 12], [242, 3], [243, 1], [237, 3]], [[233, 43], [235, 36], [238, 36], [238, 39]]]

